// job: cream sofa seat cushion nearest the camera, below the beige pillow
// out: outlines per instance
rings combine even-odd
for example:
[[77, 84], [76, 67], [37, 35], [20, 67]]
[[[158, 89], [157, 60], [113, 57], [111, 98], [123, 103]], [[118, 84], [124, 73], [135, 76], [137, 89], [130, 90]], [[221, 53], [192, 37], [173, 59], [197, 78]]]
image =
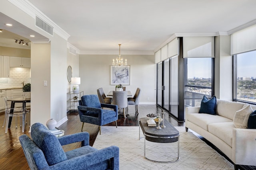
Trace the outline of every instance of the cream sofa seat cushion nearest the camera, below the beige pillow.
[[232, 147], [233, 129], [236, 128], [232, 122], [212, 123], [208, 125], [208, 131], [220, 138]]

